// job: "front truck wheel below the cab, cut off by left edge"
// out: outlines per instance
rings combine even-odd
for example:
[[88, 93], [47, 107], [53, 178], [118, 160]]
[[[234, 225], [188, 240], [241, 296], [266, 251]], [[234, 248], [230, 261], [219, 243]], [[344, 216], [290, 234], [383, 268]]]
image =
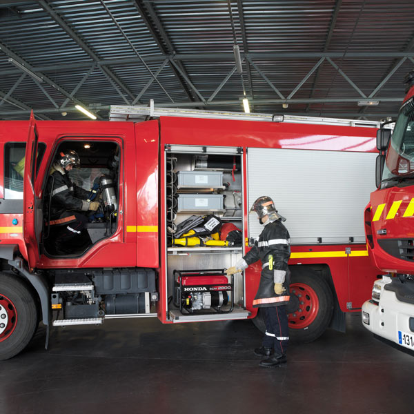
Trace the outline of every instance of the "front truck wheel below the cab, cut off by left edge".
[[0, 361], [21, 352], [38, 324], [39, 312], [26, 284], [0, 273]]

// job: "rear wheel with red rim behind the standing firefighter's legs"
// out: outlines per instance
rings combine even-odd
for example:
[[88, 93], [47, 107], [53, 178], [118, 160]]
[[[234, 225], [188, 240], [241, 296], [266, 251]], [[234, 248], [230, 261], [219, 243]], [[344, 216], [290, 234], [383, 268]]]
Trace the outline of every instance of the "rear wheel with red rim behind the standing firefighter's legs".
[[[331, 288], [313, 270], [295, 269], [290, 276], [290, 297], [290, 302], [295, 304], [295, 309], [288, 313], [290, 341], [304, 344], [315, 341], [331, 322]], [[261, 308], [253, 323], [260, 331], [266, 331], [264, 312]]]

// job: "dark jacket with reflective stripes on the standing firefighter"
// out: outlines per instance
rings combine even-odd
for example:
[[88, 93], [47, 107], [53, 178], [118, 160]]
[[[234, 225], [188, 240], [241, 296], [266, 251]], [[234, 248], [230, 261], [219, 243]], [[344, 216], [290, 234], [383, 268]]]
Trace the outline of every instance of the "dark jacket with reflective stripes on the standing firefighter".
[[[238, 268], [262, 260], [262, 275], [253, 307], [286, 305], [289, 296], [288, 259], [290, 257], [290, 236], [280, 219], [264, 224], [262, 233], [255, 240], [255, 246], [237, 263]], [[244, 262], [244, 263], [243, 263]], [[277, 295], [275, 283], [282, 283], [285, 292]]]

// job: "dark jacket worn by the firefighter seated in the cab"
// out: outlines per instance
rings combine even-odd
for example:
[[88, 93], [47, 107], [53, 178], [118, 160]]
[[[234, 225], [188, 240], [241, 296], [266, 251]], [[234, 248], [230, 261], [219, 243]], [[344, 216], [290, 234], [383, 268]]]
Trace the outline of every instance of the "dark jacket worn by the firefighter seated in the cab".
[[55, 164], [48, 178], [45, 193], [46, 218], [51, 226], [75, 221], [75, 215], [68, 210], [88, 211], [88, 191], [75, 186], [70, 181], [68, 172]]

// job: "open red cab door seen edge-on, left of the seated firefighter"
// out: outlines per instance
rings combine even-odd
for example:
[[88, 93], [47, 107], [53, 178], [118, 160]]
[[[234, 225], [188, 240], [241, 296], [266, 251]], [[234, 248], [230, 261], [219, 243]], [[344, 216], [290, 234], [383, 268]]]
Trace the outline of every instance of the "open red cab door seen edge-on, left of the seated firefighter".
[[29, 121], [23, 175], [23, 239], [28, 250], [30, 268], [36, 267], [37, 262], [39, 262], [39, 236], [43, 221], [41, 208], [39, 208], [41, 199], [36, 197], [34, 186], [37, 172], [38, 144], [39, 134], [32, 111]]

